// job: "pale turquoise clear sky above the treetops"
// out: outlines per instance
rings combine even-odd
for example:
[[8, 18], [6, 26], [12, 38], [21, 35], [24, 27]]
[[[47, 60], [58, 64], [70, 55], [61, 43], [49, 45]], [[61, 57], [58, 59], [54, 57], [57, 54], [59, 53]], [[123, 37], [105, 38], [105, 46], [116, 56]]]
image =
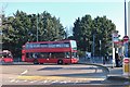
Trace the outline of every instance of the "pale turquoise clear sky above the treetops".
[[[47, 11], [60, 18], [64, 27], [74, 26], [78, 17], [90, 14], [92, 18], [106, 16], [116, 25], [121, 38], [125, 36], [125, 3], [123, 0], [0, 0], [0, 7], [5, 16], [13, 15], [17, 10], [27, 14]], [[126, 0], [128, 2], [129, 0]], [[128, 7], [128, 4], [127, 4]], [[128, 11], [128, 8], [127, 8]], [[128, 13], [128, 12], [127, 12]], [[127, 14], [128, 16], [128, 14]]]

